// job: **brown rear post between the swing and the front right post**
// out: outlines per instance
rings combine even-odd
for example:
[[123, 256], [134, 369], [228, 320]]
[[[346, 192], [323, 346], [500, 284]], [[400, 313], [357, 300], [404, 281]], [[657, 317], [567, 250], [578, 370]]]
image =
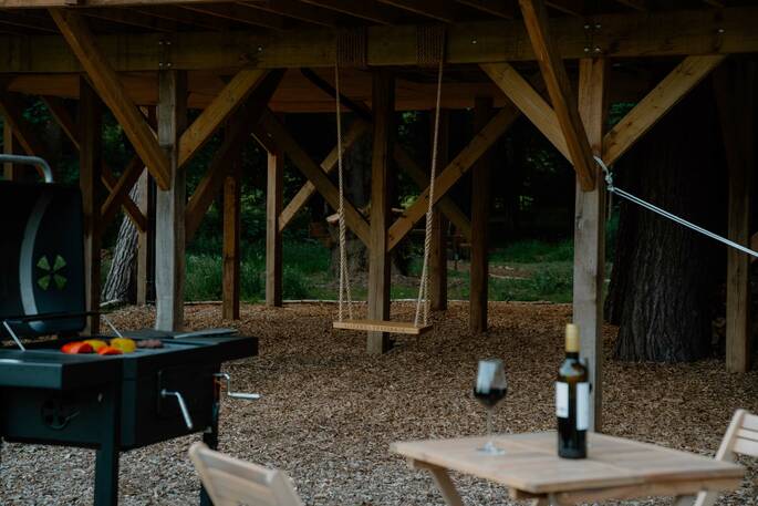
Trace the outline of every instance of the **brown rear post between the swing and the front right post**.
[[[492, 99], [477, 96], [474, 103], [474, 132], [479, 132], [492, 117]], [[469, 328], [471, 333], [487, 331], [487, 290], [489, 257], [487, 224], [489, 221], [492, 158], [481, 155], [471, 171], [471, 267], [469, 293]]]

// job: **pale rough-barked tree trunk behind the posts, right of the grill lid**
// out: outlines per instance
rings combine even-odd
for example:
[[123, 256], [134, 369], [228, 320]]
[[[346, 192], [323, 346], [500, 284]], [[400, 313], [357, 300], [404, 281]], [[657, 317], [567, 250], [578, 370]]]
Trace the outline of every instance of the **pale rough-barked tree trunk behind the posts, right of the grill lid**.
[[[139, 200], [139, 185], [134, 185], [129, 192], [134, 202]], [[136, 301], [136, 268], [137, 268], [137, 228], [132, 220], [124, 216], [118, 227], [116, 247], [113, 250], [113, 261], [103, 286], [102, 299], [104, 302], [129, 302]]]

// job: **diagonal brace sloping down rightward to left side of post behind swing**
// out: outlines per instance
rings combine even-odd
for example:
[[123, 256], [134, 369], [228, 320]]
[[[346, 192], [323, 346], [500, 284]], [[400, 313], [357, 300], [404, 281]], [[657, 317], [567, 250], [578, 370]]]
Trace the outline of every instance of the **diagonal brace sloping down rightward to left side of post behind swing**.
[[[257, 137], [268, 137], [276, 148], [290, 157], [292, 164], [315, 186], [326, 203], [333, 208], [339, 208], [339, 190], [329, 179], [326, 174], [315, 162], [298, 145], [284, 125], [271, 111], [264, 111], [261, 123], [257, 125]], [[345, 220], [347, 227], [363, 241], [368, 244], [370, 228], [361, 213], [350, 202], [345, 200]]]

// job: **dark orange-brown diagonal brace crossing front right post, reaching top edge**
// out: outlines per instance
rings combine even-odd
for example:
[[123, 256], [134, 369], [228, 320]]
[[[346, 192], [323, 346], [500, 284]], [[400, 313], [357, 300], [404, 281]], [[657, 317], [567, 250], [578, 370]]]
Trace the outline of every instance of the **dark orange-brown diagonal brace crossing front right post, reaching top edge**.
[[584, 125], [579, 117], [577, 100], [565, 66], [563, 66], [563, 61], [558, 53], [548, 27], [548, 13], [544, 3], [542, 0], [519, 0], [519, 6], [529, 32], [529, 39], [537, 54], [537, 61], [542, 71], [542, 79], [550, 94], [552, 109], [565, 137], [571, 162], [579, 175], [582, 189], [589, 192], [595, 186], [595, 162], [592, 158], [592, 149], [586, 140]]

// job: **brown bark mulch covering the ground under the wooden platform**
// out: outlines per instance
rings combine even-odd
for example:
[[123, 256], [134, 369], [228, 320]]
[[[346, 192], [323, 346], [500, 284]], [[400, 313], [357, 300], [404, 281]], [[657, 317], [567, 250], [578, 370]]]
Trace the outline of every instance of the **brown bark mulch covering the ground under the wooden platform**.
[[[396, 304], [398, 319], [412, 304]], [[221, 451], [284, 469], [307, 504], [442, 505], [430, 478], [387, 452], [391, 442], [480, 434], [481, 407], [470, 390], [478, 359], [505, 360], [510, 392], [497, 411], [502, 432], [554, 426], [553, 381], [562, 357], [570, 306], [490, 303], [491, 330], [468, 333], [467, 306], [435, 316], [435, 331], [401, 338], [382, 357], [364, 353], [361, 333], [331, 330], [331, 304], [282, 309], [245, 306], [241, 322], [220, 320], [218, 306], [187, 308], [187, 326], [235, 326], [260, 338], [260, 355], [229, 363], [233, 384], [260, 392], [258, 402], [225, 401]], [[153, 321], [150, 309], [113, 316], [121, 328]], [[605, 329], [612, 349], [615, 329]], [[713, 455], [737, 407], [758, 412], [758, 372], [738, 375], [718, 360], [694, 364], [605, 366], [605, 431]], [[181, 437], [122, 456], [121, 504], [197, 504], [198, 481], [186, 451], [198, 436]], [[0, 504], [90, 504], [93, 452], [6, 444]], [[758, 505], [758, 462], [743, 488], [719, 504]], [[501, 488], [455, 476], [466, 504], [508, 504]], [[635, 504], [635, 503], [625, 503]], [[636, 504], [671, 504], [646, 499]]]

